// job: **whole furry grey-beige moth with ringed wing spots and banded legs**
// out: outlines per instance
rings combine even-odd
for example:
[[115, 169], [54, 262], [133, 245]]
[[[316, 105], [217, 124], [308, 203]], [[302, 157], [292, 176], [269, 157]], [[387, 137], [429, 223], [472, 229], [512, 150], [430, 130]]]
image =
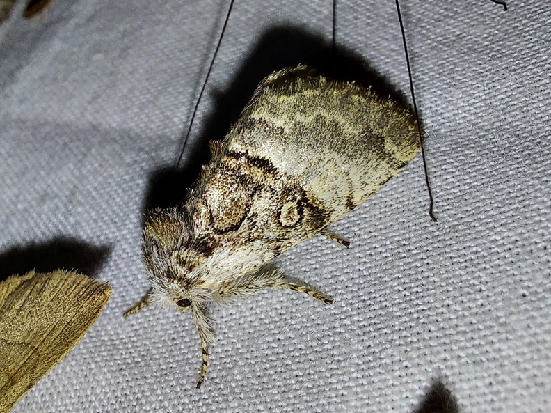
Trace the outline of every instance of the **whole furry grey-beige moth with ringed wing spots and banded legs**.
[[143, 260], [150, 302], [191, 312], [205, 380], [212, 302], [285, 288], [332, 299], [266, 266], [363, 203], [415, 156], [415, 116], [370, 88], [299, 65], [258, 86], [182, 205], [148, 213]]

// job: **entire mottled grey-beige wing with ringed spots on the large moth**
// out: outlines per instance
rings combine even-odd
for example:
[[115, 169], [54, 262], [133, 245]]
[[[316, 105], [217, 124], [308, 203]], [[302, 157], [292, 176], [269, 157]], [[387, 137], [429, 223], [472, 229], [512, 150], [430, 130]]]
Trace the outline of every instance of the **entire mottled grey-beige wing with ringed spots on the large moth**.
[[235, 248], [256, 242], [265, 263], [374, 194], [420, 139], [398, 104], [299, 66], [267, 77], [211, 147], [188, 203], [195, 234], [231, 233], [219, 240]]

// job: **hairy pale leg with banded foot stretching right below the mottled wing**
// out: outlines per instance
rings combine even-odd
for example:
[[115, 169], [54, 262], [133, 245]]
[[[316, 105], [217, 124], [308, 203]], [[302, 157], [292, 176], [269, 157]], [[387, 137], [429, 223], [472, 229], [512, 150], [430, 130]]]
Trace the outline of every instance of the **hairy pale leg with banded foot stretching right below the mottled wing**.
[[221, 286], [220, 290], [218, 290], [218, 296], [223, 299], [225, 297], [250, 295], [269, 287], [298, 291], [319, 299], [325, 304], [333, 304], [333, 299], [312, 290], [312, 288], [290, 283], [285, 279], [285, 275], [280, 270], [266, 269], [240, 276], [237, 279], [225, 283]]

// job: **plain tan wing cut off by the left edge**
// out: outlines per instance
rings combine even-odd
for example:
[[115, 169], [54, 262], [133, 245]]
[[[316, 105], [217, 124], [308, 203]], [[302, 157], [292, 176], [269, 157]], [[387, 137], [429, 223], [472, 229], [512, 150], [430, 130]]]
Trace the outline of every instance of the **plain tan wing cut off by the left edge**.
[[0, 413], [79, 342], [110, 296], [106, 283], [63, 270], [0, 283]]

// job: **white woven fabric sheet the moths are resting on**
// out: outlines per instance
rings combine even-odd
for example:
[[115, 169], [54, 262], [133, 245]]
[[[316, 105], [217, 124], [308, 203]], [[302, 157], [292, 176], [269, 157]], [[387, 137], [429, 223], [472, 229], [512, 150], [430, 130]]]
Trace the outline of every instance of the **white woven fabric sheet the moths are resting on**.
[[[54, 0], [23, 20], [19, 1], [0, 26], [0, 271], [74, 266], [113, 296], [13, 412], [413, 413], [438, 383], [463, 412], [549, 410], [551, 6], [402, 3], [438, 223], [418, 156], [334, 226], [351, 248], [278, 259], [333, 306], [270, 290], [213, 309], [198, 391], [189, 315], [122, 318], [147, 290], [145, 205], [184, 194], [231, 121], [218, 98], [271, 55], [262, 37], [330, 39], [331, 2], [236, 1], [167, 191], [152, 177], [175, 163], [228, 2]], [[337, 43], [409, 95], [394, 2], [337, 4]]]

